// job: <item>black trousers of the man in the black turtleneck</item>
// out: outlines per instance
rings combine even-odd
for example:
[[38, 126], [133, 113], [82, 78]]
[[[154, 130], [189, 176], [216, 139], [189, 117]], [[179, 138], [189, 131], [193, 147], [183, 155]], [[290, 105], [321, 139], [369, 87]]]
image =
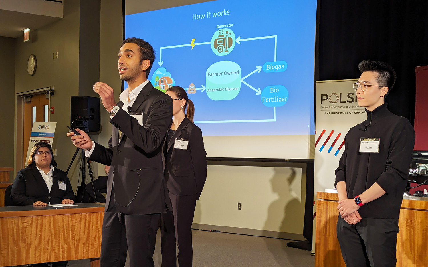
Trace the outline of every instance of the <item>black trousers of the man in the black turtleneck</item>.
[[398, 219], [363, 218], [350, 225], [339, 215], [336, 231], [347, 267], [395, 267]]

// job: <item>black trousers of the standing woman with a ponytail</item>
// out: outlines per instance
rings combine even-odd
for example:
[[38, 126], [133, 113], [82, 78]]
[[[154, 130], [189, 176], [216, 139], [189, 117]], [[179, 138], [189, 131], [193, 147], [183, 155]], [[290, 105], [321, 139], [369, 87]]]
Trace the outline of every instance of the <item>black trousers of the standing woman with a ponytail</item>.
[[[160, 216], [162, 267], [177, 266], [177, 258], [179, 267], [191, 267], [193, 263], [192, 223], [196, 195], [175, 196], [169, 193], [169, 198], [172, 211], [167, 211]], [[178, 246], [178, 255], [175, 242]]]

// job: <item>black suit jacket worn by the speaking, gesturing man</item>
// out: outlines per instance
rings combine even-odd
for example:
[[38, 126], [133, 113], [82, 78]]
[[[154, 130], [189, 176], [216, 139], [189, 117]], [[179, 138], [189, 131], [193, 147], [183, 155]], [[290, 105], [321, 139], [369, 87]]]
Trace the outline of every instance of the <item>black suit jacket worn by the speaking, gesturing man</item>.
[[[123, 103], [118, 103], [122, 107]], [[106, 211], [113, 205], [124, 214], [161, 213], [166, 210], [162, 145], [172, 118], [172, 99], [149, 82], [138, 94], [131, 111], [143, 112], [143, 126], [122, 108], [110, 123], [111, 145], [95, 143], [90, 160], [111, 166], [107, 178]], [[119, 132], [122, 138], [119, 141]]]

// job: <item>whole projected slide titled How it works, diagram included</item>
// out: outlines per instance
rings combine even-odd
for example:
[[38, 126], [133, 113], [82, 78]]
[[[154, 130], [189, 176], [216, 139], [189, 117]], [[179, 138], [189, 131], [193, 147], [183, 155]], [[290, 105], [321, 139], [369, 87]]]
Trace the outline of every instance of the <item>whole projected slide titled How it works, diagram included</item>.
[[[149, 79], [187, 90], [208, 157], [309, 158], [316, 0], [217, 0], [125, 16]], [[245, 148], [244, 148], [245, 147]]]

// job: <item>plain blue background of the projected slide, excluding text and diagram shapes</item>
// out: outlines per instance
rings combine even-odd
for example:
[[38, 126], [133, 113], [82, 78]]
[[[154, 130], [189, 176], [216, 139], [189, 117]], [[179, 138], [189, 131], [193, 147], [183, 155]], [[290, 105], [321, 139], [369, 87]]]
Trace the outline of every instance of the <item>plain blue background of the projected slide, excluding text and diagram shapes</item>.
[[[217, 25], [228, 27], [241, 39], [277, 35], [277, 61], [287, 62], [283, 72], [254, 73], [245, 79], [254, 88], [282, 85], [288, 101], [276, 107], [276, 122], [199, 123], [204, 136], [262, 136], [315, 134], [314, 54], [316, 0], [217, 0], [125, 16], [125, 36], [138, 37], [155, 49], [156, 60], [149, 79], [159, 68], [160, 47], [210, 42]], [[229, 10], [229, 15], [207, 18], [207, 12]], [[193, 15], [205, 14], [195, 20]], [[274, 39], [235, 43], [228, 55], [217, 56], [211, 45], [196, 45], [162, 50], [163, 68], [171, 73], [175, 85], [187, 90], [190, 83], [205, 86], [205, 72], [215, 62], [229, 60], [241, 66], [246, 76], [274, 59]], [[205, 90], [188, 94], [195, 104], [195, 121], [273, 119], [273, 107], [262, 104], [261, 96], [241, 83], [238, 96], [213, 101]], [[308, 127], [309, 125], [309, 127]]]

